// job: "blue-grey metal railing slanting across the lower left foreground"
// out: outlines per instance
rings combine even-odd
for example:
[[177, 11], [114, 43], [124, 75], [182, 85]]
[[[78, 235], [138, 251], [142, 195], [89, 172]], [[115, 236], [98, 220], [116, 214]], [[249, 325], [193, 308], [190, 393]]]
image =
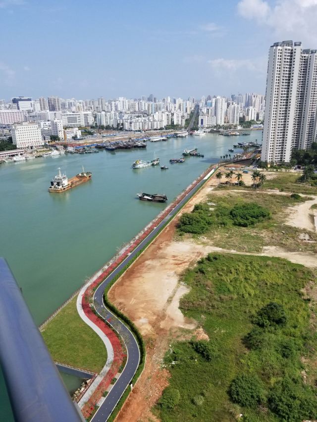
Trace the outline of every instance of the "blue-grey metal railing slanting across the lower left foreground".
[[84, 421], [3, 258], [0, 292], [0, 364], [15, 421]]

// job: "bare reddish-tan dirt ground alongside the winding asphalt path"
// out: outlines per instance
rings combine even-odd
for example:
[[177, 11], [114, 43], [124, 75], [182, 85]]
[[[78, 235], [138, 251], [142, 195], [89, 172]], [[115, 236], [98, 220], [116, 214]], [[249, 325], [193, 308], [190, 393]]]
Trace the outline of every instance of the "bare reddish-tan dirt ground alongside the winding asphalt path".
[[[211, 179], [186, 204], [181, 213], [191, 211], [196, 203], [206, 200], [217, 183], [215, 178]], [[288, 224], [296, 222], [298, 218], [299, 211], [296, 207], [293, 208], [289, 210]], [[301, 210], [302, 221], [306, 218], [308, 224], [309, 216], [304, 217], [302, 211], [304, 210]], [[157, 421], [151, 408], [168, 385], [168, 372], [161, 368], [162, 358], [172, 339], [189, 338], [195, 334], [195, 329], [197, 333], [196, 322], [184, 318], [178, 308], [180, 297], [187, 291], [187, 287], [179, 282], [180, 274], [208, 252], [232, 252], [191, 240], [177, 241], [174, 239], [176, 224], [177, 217], [109, 292], [109, 299], [140, 329], [147, 347], [145, 370], [117, 417], [120, 422]], [[262, 254], [280, 256], [311, 267], [317, 266], [316, 256], [313, 254], [290, 254], [274, 247], [266, 250], [264, 248]]]

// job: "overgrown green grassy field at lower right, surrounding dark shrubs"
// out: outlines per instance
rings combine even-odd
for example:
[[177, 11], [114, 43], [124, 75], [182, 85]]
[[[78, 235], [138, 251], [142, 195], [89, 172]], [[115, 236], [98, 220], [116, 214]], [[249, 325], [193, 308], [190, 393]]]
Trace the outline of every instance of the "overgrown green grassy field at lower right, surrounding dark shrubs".
[[[171, 374], [170, 386], [179, 391], [180, 401], [171, 408], [157, 405], [154, 411], [160, 420], [226, 422], [235, 421], [242, 413], [241, 421], [281, 421], [270, 410], [269, 400], [271, 391], [286, 376], [294, 380], [303, 395], [316, 401], [301, 378], [304, 368], [308, 382], [317, 375], [313, 365], [317, 337], [310, 320], [312, 303], [301, 294], [312, 280], [314, 275], [301, 265], [248, 255], [210, 254], [187, 270], [182, 281], [191, 290], [181, 299], [180, 308], [204, 328], [213, 354], [208, 361], [190, 341], [172, 345], [173, 352], [167, 352], [165, 364]], [[264, 343], [250, 350], [243, 338], [255, 327], [252, 317], [271, 301], [284, 308], [286, 325], [261, 328]], [[285, 344], [294, 349], [287, 357], [282, 355]], [[230, 383], [241, 374], [258, 376], [264, 384], [261, 407], [241, 407], [230, 399]], [[290, 400], [293, 402], [296, 397]], [[293, 416], [286, 420], [300, 421]]]

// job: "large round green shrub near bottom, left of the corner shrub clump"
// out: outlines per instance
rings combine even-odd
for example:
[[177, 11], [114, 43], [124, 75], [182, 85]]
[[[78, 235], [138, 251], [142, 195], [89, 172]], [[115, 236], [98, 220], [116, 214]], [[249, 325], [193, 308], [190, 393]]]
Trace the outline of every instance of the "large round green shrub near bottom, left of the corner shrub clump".
[[229, 388], [233, 402], [255, 408], [265, 401], [264, 386], [256, 375], [238, 375]]

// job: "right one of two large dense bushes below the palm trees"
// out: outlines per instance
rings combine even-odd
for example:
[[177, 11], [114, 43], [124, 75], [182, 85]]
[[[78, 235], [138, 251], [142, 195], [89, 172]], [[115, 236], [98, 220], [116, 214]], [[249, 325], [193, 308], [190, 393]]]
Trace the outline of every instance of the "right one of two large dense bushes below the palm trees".
[[270, 212], [255, 202], [237, 204], [230, 211], [233, 224], [248, 227], [270, 217]]

